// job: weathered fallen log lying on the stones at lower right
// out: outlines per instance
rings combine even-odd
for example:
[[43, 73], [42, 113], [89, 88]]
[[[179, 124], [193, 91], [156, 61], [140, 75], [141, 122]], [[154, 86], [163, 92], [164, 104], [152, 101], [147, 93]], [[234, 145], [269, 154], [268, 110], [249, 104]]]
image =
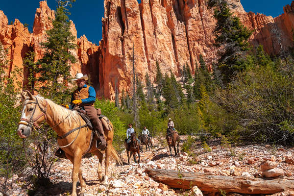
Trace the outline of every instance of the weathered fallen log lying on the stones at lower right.
[[218, 176], [197, 172], [146, 169], [154, 181], [177, 189], [191, 189], [197, 186], [201, 191], [241, 194], [275, 194], [287, 190], [294, 191], [294, 178], [262, 179], [245, 176]]

